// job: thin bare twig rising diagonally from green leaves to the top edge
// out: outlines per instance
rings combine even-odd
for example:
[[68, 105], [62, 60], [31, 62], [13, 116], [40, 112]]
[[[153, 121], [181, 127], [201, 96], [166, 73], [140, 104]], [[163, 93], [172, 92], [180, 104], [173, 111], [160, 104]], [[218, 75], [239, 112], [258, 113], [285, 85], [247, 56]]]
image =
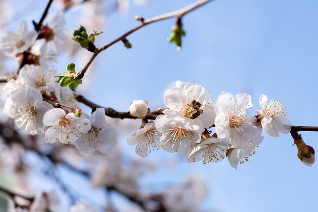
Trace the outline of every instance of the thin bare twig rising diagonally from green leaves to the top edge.
[[199, 0], [191, 5], [188, 5], [180, 10], [176, 10], [170, 13], [165, 13], [162, 15], [158, 15], [152, 18], [148, 18], [148, 19], [143, 19], [142, 23], [134, 28], [132, 28], [130, 31], [126, 32], [125, 34], [119, 36], [118, 38], [116, 38], [115, 40], [109, 42], [108, 44], [95, 49], [93, 55], [91, 56], [91, 58], [89, 59], [88, 63], [84, 66], [84, 68], [82, 70], [80, 70], [77, 73], [77, 77], [79, 79], [82, 79], [84, 77], [84, 74], [86, 73], [88, 67], [90, 66], [90, 64], [93, 62], [93, 60], [96, 58], [96, 56], [101, 53], [102, 51], [104, 51], [105, 49], [109, 48], [110, 46], [112, 46], [113, 44], [117, 43], [118, 41], [121, 41], [123, 39], [125, 39], [127, 36], [129, 36], [130, 34], [136, 32], [138, 29], [142, 28], [145, 25], [148, 25], [150, 23], [154, 23], [160, 20], [164, 20], [164, 19], [169, 19], [169, 18], [182, 18], [185, 14], [195, 10], [196, 8], [208, 3], [208, 2], [212, 2], [213, 0]]

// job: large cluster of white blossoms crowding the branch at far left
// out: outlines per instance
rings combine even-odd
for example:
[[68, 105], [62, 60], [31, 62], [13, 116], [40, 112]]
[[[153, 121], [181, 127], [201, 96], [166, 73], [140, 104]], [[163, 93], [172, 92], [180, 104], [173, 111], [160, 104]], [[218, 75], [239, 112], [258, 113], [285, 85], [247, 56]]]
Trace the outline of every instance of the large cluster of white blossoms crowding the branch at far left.
[[[16, 32], [0, 37], [0, 52], [22, 59], [23, 66], [5, 84], [3, 112], [16, 127], [30, 135], [44, 135], [47, 143], [73, 144], [83, 153], [107, 153], [117, 144], [118, 133], [106, 121], [103, 108], [91, 115], [77, 108], [75, 93], [54, 79], [52, 63], [67, 37], [61, 12], [44, 21], [39, 31], [22, 21]], [[62, 106], [61, 106], [62, 105]]]

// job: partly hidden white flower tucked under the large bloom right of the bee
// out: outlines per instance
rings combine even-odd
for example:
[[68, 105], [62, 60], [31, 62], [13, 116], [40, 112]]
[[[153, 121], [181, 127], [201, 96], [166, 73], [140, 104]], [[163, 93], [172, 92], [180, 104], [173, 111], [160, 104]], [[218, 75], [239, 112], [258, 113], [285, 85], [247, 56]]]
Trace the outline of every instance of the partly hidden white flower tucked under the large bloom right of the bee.
[[[237, 169], [238, 163], [242, 164], [248, 161], [248, 157], [255, 154], [255, 147], [260, 145], [264, 139], [264, 136], [260, 135], [256, 140], [248, 143], [248, 146], [245, 149], [231, 148], [228, 150], [227, 157], [230, 162], [230, 165]], [[242, 160], [244, 159], [244, 160]]]

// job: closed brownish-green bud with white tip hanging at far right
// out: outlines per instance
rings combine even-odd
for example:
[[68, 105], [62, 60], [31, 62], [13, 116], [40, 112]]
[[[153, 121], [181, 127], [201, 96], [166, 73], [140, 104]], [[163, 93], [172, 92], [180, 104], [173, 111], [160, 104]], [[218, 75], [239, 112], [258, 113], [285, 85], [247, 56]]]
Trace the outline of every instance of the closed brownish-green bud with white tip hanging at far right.
[[298, 149], [297, 156], [299, 160], [306, 166], [312, 166], [315, 160], [314, 149], [304, 142], [301, 135], [295, 140], [295, 144]]

